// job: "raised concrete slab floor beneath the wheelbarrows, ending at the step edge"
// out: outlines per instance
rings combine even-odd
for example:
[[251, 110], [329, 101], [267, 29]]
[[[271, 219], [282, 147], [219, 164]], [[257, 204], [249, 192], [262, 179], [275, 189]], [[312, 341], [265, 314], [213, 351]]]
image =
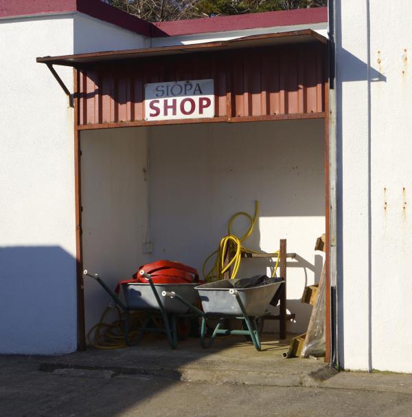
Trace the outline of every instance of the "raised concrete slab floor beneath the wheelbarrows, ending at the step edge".
[[280, 342], [273, 334], [263, 335], [258, 352], [244, 336], [216, 339], [209, 349], [203, 349], [199, 339], [190, 338], [171, 350], [163, 336], [147, 336], [139, 345], [122, 350], [90, 349], [48, 358], [42, 369], [106, 370], [181, 381], [271, 386], [313, 385], [318, 378], [332, 375], [323, 359], [284, 359], [289, 340]]

